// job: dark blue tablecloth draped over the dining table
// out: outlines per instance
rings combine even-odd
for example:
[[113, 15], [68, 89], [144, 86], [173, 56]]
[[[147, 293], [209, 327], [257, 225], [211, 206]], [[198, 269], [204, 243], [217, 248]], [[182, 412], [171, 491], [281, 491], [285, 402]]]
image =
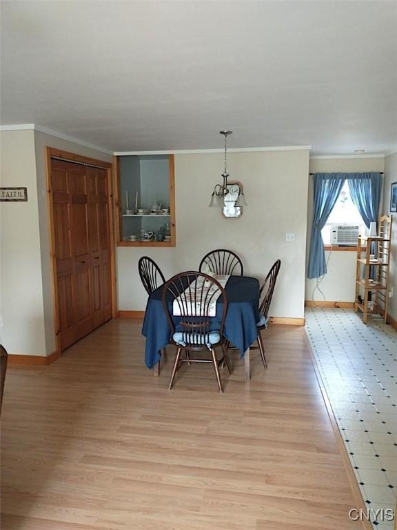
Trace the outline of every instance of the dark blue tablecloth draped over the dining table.
[[[171, 329], [161, 302], [162, 286], [156, 289], [147, 300], [142, 334], [146, 337], [145, 364], [147, 368], [159, 362], [161, 349], [170, 342]], [[256, 340], [259, 320], [259, 282], [256, 278], [231, 276], [225, 287], [227, 296], [227, 313], [223, 335], [240, 351], [243, 357], [245, 350]], [[212, 329], [219, 329], [223, 302], [221, 297], [216, 302], [216, 316], [213, 317]], [[174, 318], [177, 324], [178, 317]]]

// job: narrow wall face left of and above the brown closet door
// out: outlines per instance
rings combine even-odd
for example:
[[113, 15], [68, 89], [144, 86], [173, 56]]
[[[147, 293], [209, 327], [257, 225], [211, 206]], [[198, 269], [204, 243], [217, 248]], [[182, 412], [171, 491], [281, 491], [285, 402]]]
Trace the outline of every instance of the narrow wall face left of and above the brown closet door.
[[[51, 355], [55, 351], [54, 308], [52, 300], [52, 277], [50, 268], [50, 233], [48, 228], [47, 204], [47, 176], [45, 168], [45, 147], [53, 147], [107, 162], [112, 161], [112, 155], [101, 153], [80, 144], [74, 144], [62, 138], [54, 137], [34, 131], [34, 147], [37, 168], [37, 200], [39, 203], [41, 275], [43, 285], [43, 313], [45, 325], [45, 351]], [[33, 355], [33, 354], [31, 354]]]

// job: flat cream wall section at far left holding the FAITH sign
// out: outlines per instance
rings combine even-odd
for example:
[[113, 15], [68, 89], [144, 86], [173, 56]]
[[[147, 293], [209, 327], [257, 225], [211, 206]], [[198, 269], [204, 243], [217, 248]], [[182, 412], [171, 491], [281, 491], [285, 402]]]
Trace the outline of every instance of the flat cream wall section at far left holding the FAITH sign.
[[1, 202], [1, 341], [8, 353], [45, 355], [43, 284], [33, 130], [0, 132], [1, 186], [28, 202]]

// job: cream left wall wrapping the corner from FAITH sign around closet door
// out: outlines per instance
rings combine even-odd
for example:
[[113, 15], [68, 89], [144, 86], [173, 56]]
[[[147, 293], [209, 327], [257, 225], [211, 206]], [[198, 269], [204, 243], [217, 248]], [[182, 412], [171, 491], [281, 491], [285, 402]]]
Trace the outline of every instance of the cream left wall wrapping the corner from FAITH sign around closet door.
[[27, 186], [28, 202], [2, 202], [1, 340], [10, 354], [55, 351], [45, 146], [112, 161], [112, 156], [34, 130], [0, 132], [1, 186]]

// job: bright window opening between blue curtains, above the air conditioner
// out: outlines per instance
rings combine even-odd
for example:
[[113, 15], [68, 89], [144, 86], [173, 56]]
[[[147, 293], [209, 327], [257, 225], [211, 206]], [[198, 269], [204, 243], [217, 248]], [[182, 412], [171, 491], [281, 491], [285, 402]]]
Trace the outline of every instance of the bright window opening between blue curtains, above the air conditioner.
[[333, 226], [358, 226], [360, 235], [365, 235], [367, 233], [367, 227], [361, 217], [360, 212], [352, 201], [350, 196], [349, 184], [345, 181], [342, 191], [339, 194], [338, 200], [329, 215], [327, 224], [321, 230], [321, 235], [323, 236], [323, 241], [325, 245], [331, 244], [331, 233]]

